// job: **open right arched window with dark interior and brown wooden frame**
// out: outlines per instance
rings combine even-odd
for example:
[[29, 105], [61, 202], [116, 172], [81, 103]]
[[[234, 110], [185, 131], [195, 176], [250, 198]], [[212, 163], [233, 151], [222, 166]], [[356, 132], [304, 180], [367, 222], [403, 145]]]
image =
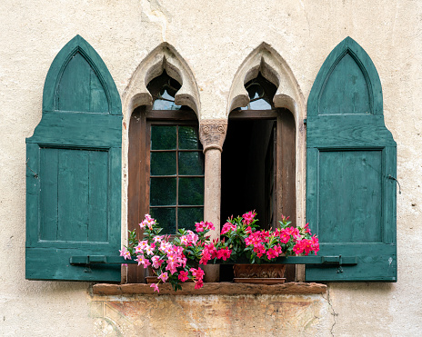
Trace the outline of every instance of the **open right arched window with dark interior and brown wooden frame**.
[[245, 87], [250, 103], [230, 113], [223, 145], [221, 219], [256, 209], [261, 228], [276, 228], [296, 218], [295, 120], [262, 74]]

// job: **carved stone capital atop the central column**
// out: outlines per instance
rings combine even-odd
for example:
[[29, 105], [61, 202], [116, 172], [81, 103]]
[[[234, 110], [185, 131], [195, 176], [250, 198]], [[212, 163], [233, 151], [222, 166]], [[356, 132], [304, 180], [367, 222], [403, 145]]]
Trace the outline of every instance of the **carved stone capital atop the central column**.
[[223, 143], [227, 133], [226, 119], [206, 119], [199, 124], [199, 139], [204, 146], [204, 154], [209, 149], [223, 152]]

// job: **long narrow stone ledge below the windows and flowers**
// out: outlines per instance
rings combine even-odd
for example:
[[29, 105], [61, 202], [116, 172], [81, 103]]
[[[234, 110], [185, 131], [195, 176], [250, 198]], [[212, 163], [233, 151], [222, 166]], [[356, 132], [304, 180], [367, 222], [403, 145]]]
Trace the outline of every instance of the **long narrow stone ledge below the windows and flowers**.
[[195, 283], [183, 284], [183, 290], [173, 291], [170, 284], [160, 284], [160, 292], [154, 292], [150, 284], [128, 283], [107, 284], [98, 283], [93, 286], [95, 295], [136, 295], [136, 294], [160, 294], [160, 295], [246, 295], [246, 294], [311, 294], [326, 293], [327, 285], [321, 283], [288, 282], [283, 284], [255, 284], [255, 283], [231, 283], [209, 282], [204, 283], [201, 289], [195, 289]]

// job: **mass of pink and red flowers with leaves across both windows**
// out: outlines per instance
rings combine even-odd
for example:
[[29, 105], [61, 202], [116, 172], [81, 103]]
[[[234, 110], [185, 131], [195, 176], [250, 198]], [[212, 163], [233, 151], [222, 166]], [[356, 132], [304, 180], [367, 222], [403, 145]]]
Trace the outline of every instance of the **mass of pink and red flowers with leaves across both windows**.
[[275, 231], [256, 230], [255, 211], [227, 220], [221, 230], [221, 241], [209, 242], [207, 233], [215, 229], [213, 223], [196, 223], [196, 233], [179, 229], [176, 237], [160, 235], [162, 228], [156, 220], [146, 214], [139, 223], [144, 230], [144, 240], [136, 239], [136, 232], [129, 231], [129, 243], [120, 251], [125, 260], [134, 259], [138, 265], [152, 268], [158, 282], [152, 283], [154, 291], [159, 292], [160, 282], [170, 282], [175, 291], [181, 290], [181, 282], [192, 280], [195, 289], [204, 285], [204, 271], [199, 264], [206, 265], [210, 260], [235, 260], [246, 255], [250, 263], [271, 261], [276, 257], [294, 253], [316, 253], [319, 243], [312, 236], [307, 223], [304, 227], [288, 226], [288, 217], [282, 217], [281, 228]]

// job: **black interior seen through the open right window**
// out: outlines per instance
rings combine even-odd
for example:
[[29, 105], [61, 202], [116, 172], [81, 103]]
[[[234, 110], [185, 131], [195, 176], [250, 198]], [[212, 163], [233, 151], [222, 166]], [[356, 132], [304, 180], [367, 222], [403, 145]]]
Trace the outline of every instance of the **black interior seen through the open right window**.
[[269, 215], [274, 209], [269, 193], [274, 192], [274, 164], [269, 158], [274, 159], [275, 132], [276, 119], [229, 122], [221, 159], [222, 221], [256, 210], [262, 228], [274, 226]]

